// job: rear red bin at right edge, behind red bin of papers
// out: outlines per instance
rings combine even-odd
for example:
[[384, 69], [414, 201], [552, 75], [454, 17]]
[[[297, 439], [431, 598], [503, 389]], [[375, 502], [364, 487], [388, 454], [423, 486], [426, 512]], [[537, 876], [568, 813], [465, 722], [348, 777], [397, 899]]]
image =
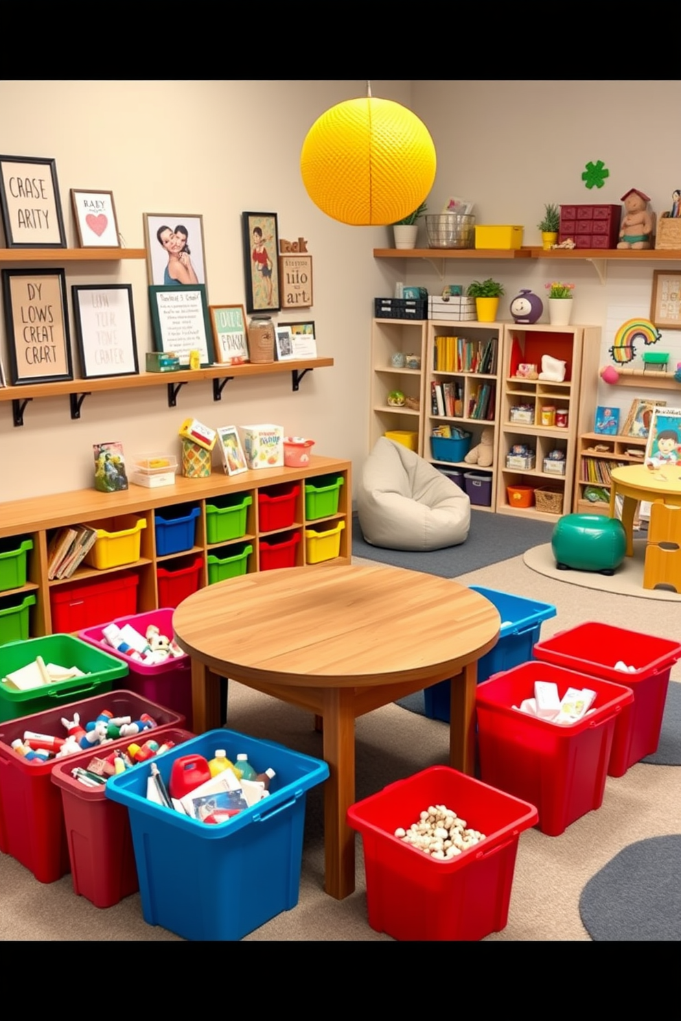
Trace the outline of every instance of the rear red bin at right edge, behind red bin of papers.
[[[633, 703], [623, 710], [615, 728], [610, 776], [624, 776], [630, 766], [658, 750], [669, 676], [681, 658], [679, 642], [590, 622], [537, 642], [533, 652], [544, 663], [624, 684], [633, 691]], [[636, 670], [616, 670], [620, 660]]]

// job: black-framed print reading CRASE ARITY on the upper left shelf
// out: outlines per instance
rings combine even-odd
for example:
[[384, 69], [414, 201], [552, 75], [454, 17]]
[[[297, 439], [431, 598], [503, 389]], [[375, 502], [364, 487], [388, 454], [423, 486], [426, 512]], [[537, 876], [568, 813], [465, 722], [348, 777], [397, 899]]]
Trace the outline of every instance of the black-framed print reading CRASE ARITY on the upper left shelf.
[[65, 248], [53, 159], [0, 156], [0, 206], [7, 248]]

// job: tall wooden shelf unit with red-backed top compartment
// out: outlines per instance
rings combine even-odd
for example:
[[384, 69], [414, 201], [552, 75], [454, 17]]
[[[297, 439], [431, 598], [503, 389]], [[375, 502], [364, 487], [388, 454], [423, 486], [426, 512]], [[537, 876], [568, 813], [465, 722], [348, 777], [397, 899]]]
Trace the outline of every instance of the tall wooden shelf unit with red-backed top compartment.
[[[502, 393], [499, 408], [498, 472], [496, 510], [522, 515], [541, 521], [556, 522], [569, 514], [573, 503], [573, 482], [577, 455], [577, 437], [588, 428], [596, 404], [600, 330], [591, 326], [554, 327], [544, 324], [514, 326], [504, 329]], [[566, 362], [565, 380], [529, 380], [518, 376], [522, 362], [536, 364], [541, 373], [542, 355]], [[567, 425], [551, 422], [550, 408], [567, 412]], [[534, 451], [533, 467], [506, 467], [506, 457], [515, 446]], [[565, 474], [545, 470], [552, 450], [565, 453]], [[513, 501], [514, 491], [525, 488], [557, 490], [561, 499], [551, 501]], [[509, 495], [510, 491], [510, 495]]]

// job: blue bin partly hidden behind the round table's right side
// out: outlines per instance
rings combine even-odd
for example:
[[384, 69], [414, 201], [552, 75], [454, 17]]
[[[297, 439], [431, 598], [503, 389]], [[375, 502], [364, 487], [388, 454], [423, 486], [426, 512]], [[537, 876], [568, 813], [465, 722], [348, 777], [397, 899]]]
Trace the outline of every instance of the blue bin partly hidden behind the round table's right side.
[[[555, 617], [556, 610], [550, 602], [526, 599], [521, 595], [510, 595], [494, 588], [470, 585], [472, 591], [480, 592], [494, 603], [501, 618], [499, 639], [489, 652], [478, 661], [478, 684], [488, 680], [492, 674], [519, 667], [521, 663], [533, 660], [532, 649], [539, 641], [542, 621]], [[424, 691], [426, 716], [431, 720], [449, 723], [449, 681], [433, 684]]]

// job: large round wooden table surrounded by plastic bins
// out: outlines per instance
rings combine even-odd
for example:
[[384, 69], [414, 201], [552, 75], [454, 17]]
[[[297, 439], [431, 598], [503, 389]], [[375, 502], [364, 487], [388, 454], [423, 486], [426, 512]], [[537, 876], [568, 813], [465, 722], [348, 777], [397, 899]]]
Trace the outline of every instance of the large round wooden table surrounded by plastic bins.
[[[322, 717], [325, 888], [354, 889], [354, 720], [446, 678], [450, 763], [472, 774], [477, 661], [496, 643], [500, 618], [456, 582], [380, 565], [330, 561], [242, 575], [180, 603], [173, 627], [192, 658], [194, 729], [221, 727], [217, 678]], [[272, 735], [276, 740], [277, 735]]]

